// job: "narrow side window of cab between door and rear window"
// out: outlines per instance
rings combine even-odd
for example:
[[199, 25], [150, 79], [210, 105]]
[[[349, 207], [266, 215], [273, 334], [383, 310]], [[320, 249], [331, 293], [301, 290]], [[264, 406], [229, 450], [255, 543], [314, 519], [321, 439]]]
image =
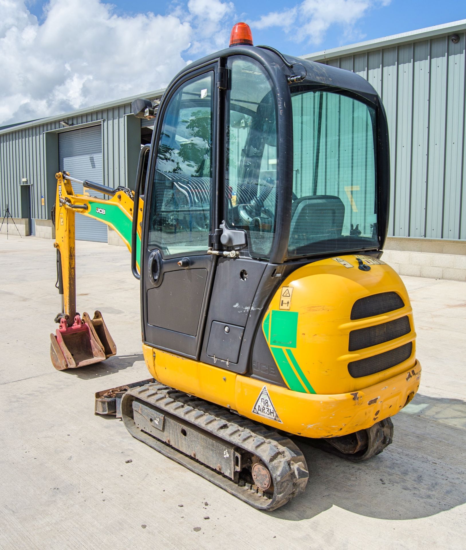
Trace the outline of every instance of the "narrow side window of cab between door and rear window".
[[250, 58], [229, 58], [225, 215], [248, 235], [251, 256], [270, 256], [275, 235], [277, 119], [275, 94], [264, 69]]

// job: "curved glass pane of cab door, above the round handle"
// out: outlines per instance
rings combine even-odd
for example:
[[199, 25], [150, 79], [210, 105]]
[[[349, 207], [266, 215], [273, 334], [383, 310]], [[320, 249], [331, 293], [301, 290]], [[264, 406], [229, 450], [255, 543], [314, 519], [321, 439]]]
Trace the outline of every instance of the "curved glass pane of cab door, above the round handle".
[[206, 252], [212, 204], [213, 73], [169, 100], [157, 147], [149, 245], [162, 256]]

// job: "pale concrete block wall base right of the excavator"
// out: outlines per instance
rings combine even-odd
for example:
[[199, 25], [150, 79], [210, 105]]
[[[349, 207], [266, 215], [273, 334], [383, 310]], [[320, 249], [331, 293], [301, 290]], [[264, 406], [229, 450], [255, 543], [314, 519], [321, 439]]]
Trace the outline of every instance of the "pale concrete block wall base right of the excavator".
[[389, 237], [382, 260], [401, 275], [466, 281], [466, 241]]

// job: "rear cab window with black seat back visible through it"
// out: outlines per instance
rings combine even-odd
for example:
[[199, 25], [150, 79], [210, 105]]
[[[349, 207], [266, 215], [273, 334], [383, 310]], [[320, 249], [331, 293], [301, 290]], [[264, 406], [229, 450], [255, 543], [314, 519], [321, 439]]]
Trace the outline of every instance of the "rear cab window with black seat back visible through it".
[[288, 256], [378, 248], [374, 109], [309, 89], [292, 91], [292, 109]]

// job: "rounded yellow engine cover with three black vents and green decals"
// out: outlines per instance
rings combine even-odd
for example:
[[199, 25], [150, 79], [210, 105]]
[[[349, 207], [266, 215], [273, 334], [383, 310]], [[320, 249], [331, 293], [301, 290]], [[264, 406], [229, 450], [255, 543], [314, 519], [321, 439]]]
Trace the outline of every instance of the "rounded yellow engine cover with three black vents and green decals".
[[[358, 257], [370, 270], [359, 269]], [[357, 300], [382, 293], [396, 293], [404, 306], [381, 315], [351, 320]], [[405, 317], [406, 334], [349, 351], [350, 332], [380, 326], [373, 329], [372, 337], [366, 331], [365, 339], [383, 340], [379, 333], [390, 326], [386, 323]], [[273, 297], [262, 329], [284, 381], [297, 392], [354, 392], [396, 376], [415, 363], [413, 310], [404, 284], [390, 266], [369, 256], [320, 260], [294, 271]], [[364, 333], [359, 338], [364, 339]], [[350, 363], [404, 345], [411, 353], [396, 366], [369, 376], [350, 375]]]

